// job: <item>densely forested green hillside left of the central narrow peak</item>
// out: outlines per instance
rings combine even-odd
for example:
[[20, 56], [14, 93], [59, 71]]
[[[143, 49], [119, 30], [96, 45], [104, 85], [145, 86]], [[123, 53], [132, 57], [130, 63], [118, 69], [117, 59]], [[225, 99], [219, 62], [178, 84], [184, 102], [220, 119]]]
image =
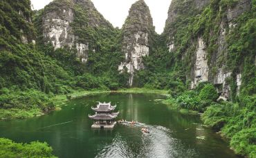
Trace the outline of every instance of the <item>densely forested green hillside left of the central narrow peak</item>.
[[[67, 7], [68, 2], [61, 4]], [[86, 63], [77, 56], [80, 50], [75, 47], [55, 48], [45, 41], [43, 17], [45, 12], [58, 8], [57, 5], [60, 1], [53, 1], [45, 10], [33, 12], [30, 1], [1, 1], [2, 119], [31, 117], [53, 110], [55, 105], [51, 98], [54, 95], [75, 90], [116, 90], [127, 86], [125, 75], [118, 73], [122, 59], [118, 44], [120, 30], [107, 21], [107, 28], [82, 25], [81, 22], [86, 23], [89, 18], [81, 9], [83, 3], [73, 4], [76, 17], [71, 26], [79, 34], [80, 41], [91, 43]], [[96, 12], [95, 8], [93, 12]]]

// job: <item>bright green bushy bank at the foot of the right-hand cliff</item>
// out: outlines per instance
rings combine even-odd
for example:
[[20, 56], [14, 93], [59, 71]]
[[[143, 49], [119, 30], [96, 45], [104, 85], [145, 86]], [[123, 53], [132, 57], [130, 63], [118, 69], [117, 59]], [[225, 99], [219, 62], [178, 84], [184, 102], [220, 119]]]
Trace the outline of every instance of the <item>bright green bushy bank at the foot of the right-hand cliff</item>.
[[256, 96], [240, 95], [237, 103], [221, 101], [217, 97], [214, 86], [205, 84], [196, 90], [187, 90], [176, 97], [169, 97], [163, 103], [180, 112], [201, 112], [203, 124], [226, 137], [230, 148], [237, 155], [256, 157], [253, 141], [256, 132]]

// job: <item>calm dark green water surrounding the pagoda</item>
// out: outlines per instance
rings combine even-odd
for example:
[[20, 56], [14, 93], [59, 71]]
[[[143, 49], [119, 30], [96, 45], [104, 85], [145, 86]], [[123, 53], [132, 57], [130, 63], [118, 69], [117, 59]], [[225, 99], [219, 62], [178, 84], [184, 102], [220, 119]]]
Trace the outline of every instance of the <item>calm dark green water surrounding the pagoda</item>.
[[[237, 157], [199, 116], [182, 115], [157, 99], [164, 97], [111, 93], [74, 99], [50, 115], [0, 121], [0, 137], [46, 141], [58, 157]], [[150, 133], [120, 124], [113, 130], [91, 129], [88, 115], [97, 101], [117, 104], [118, 119], [138, 120]]]

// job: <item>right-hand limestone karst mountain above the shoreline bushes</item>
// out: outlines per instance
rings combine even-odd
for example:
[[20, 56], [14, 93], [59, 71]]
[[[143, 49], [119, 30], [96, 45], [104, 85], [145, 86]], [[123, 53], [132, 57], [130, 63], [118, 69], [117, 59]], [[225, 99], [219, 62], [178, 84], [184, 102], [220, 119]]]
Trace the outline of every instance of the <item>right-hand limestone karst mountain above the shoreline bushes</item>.
[[[237, 87], [237, 94], [239, 93], [241, 86], [241, 71], [242, 63], [237, 66], [237, 70], [228, 68], [228, 41], [227, 37], [237, 26], [236, 17], [250, 10], [250, 0], [240, 0], [232, 6], [219, 6], [216, 12], [223, 14], [219, 19], [212, 19], [213, 21], [203, 21], [214, 23], [213, 28], [207, 28], [211, 30], [199, 30], [193, 32], [194, 34], [187, 34], [188, 41], [186, 46], [182, 46], [183, 43], [179, 41], [181, 36], [179, 29], [185, 29], [185, 23], [191, 23], [189, 18], [208, 16], [202, 10], [205, 7], [209, 8], [210, 1], [176, 1], [173, 0], [168, 12], [168, 19], [165, 26], [165, 34], [167, 36], [167, 46], [171, 53], [178, 52], [179, 49], [183, 49], [179, 57], [176, 58], [176, 62], [182, 60], [183, 64], [187, 66], [186, 78], [187, 81], [191, 81], [190, 88], [194, 89], [200, 82], [209, 81], [213, 83], [219, 90], [219, 95], [222, 99], [230, 99], [231, 97], [231, 85], [227, 83], [226, 79], [235, 76], [235, 84]], [[231, 2], [230, 2], [231, 3]], [[218, 5], [216, 4], [211, 4]], [[220, 4], [221, 5], [221, 4]], [[190, 10], [185, 10], [188, 8]], [[208, 9], [207, 8], [207, 9]], [[210, 13], [212, 14], [212, 13]], [[185, 19], [187, 18], [187, 19]], [[181, 23], [180, 21], [183, 21]], [[177, 24], [179, 23], [179, 24]], [[205, 25], [202, 24], [202, 25]], [[201, 26], [203, 27], [203, 26]], [[188, 31], [190, 28], [186, 28]], [[185, 35], [185, 34], [184, 34]], [[212, 36], [214, 35], [213, 39]], [[188, 44], [189, 43], [189, 44]], [[214, 50], [210, 53], [210, 47], [214, 45]], [[190, 67], [188, 67], [190, 66]]]

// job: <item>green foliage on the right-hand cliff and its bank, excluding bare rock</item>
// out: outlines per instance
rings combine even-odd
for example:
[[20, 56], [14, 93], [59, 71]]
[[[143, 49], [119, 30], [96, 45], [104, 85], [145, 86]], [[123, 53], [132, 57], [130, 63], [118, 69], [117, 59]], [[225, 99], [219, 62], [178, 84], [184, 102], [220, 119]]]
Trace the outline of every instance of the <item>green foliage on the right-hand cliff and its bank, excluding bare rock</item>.
[[[171, 28], [175, 32], [176, 50], [173, 52], [173, 58], [176, 60], [172, 65], [174, 71], [182, 70], [187, 74], [190, 73], [191, 60], [196, 48], [194, 41], [200, 36], [207, 45], [208, 61], [211, 61], [212, 54], [217, 50], [221, 21], [226, 17], [225, 10], [235, 4], [237, 1], [212, 0], [200, 15], [182, 14], [177, 17], [177, 22], [173, 23], [173, 26], [165, 28], [167, 30]], [[232, 102], [217, 101], [217, 91], [209, 83], [201, 83], [196, 90], [182, 89], [174, 94], [173, 90], [170, 90], [172, 97], [165, 101], [179, 109], [203, 112], [201, 118], [204, 123], [216, 131], [220, 130], [222, 135], [228, 137], [231, 148], [237, 154], [248, 157], [256, 157], [255, 8], [256, 1], [253, 0], [251, 10], [232, 21], [237, 23], [235, 28], [225, 26], [228, 32], [226, 33], [228, 55], [226, 59], [223, 58], [222, 63], [217, 63], [217, 66], [211, 68], [214, 72], [218, 66], [224, 64], [232, 74], [242, 72], [239, 95], [235, 83], [236, 76], [232, 75], [226, 79], [230, 84]], [[181, 62], [182, 57], [185, 57], [185, 62]]]

